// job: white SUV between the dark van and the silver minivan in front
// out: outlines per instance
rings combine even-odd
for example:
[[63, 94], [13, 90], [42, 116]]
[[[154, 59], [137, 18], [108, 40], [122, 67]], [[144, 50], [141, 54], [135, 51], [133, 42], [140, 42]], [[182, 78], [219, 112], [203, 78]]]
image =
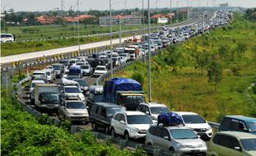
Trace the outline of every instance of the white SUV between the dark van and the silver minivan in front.
[[122, 135], [124, 139], [144, 138], [152, 121], [144, 112], [116, 112], [111, 119], [111, 135]]

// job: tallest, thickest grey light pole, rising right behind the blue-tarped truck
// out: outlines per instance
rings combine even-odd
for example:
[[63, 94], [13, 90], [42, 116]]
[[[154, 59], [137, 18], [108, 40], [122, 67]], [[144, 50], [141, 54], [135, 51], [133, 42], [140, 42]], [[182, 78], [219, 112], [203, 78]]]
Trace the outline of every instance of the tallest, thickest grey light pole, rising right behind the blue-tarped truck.
[[149, 103], [151, 102], [151, 43], [150, 43], [150, 4], [148, 0], [148, 27], [149, 27]]

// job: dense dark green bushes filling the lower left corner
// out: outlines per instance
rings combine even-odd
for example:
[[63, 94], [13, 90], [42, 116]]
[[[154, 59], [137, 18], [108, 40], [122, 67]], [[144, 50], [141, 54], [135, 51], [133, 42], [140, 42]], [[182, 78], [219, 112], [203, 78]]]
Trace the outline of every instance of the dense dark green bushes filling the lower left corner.
[[[14, 76], [12, 80], [22, 77]], [[53, 126], [46, 115], [33, 117], [16, 97], [11, 98], [11, 90], [8, 93], [2, 88], [1, 155], [145, 155], [141, 149], [131, 152], [99, 141], [90, 131], [71, 135], [70, 122]]]

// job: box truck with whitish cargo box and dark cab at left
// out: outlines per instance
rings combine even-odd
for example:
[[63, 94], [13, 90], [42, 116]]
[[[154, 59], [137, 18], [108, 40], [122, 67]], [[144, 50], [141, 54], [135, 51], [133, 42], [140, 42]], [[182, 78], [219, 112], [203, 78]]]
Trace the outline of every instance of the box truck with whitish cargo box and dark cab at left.
[[57, 111], [59, 108], [59, 86], [55, 84], [36, 84], [35, 105], [40, 111]]

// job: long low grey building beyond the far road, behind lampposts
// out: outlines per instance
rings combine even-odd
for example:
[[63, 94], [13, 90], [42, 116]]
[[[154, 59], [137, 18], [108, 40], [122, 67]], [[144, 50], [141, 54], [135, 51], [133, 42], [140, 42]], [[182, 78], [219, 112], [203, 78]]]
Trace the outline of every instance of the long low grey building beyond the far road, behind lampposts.
[[[134, 11], [127, 16], [112, 16], [112, 25], [119, 25], [120, 21], [125, 25], [141, 25], [142, 17], [138, 11]], [[100, 16], [99, 21], [101, 26], [108, 26], [110, 25], [110, 16]]]

